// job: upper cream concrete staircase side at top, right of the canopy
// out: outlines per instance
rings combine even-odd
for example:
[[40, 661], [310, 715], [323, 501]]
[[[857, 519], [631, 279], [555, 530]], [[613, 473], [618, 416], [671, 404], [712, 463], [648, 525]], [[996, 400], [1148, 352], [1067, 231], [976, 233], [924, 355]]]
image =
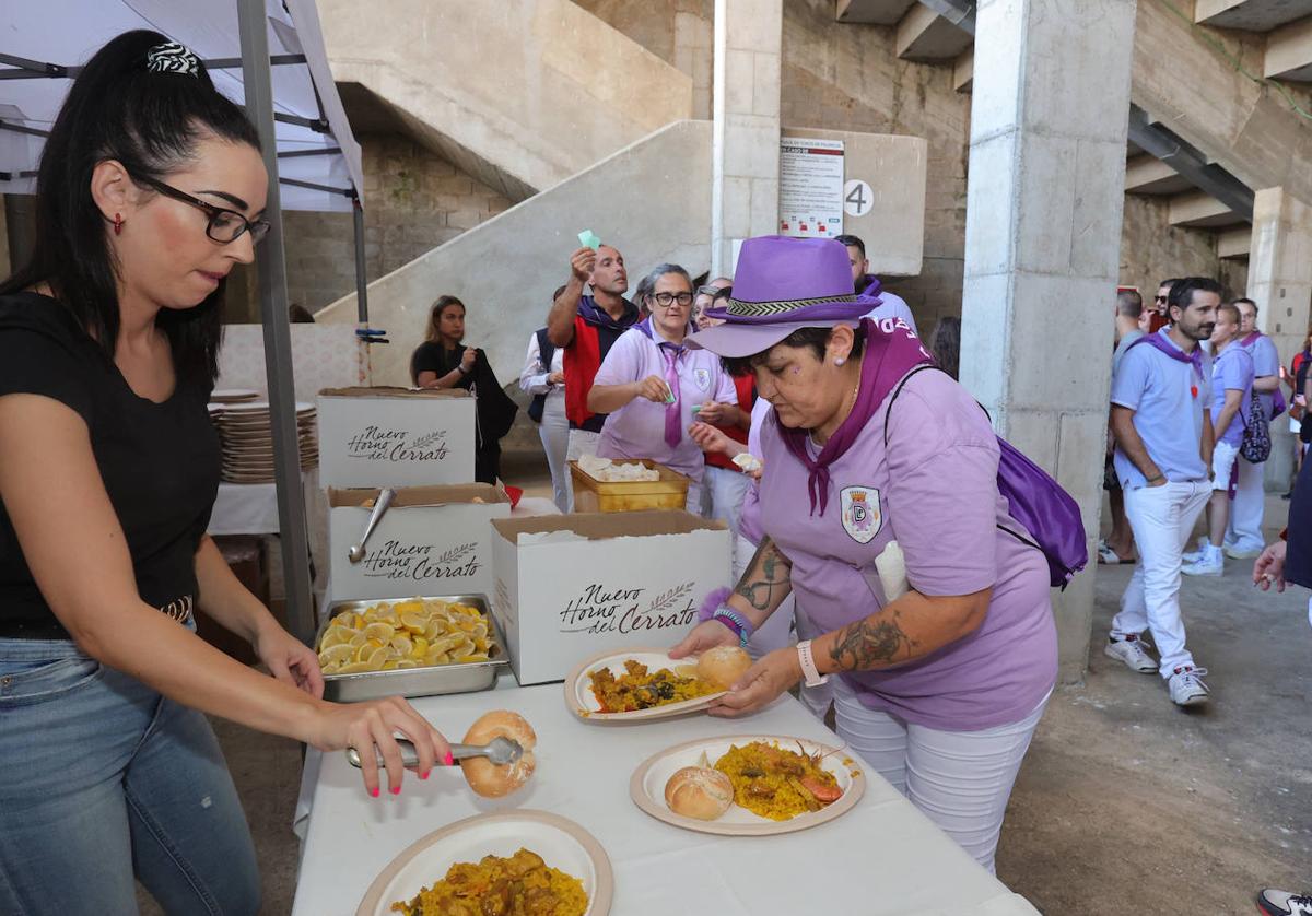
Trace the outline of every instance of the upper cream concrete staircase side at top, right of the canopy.
[[691, 77], [569, 0], [319, 0], [319, 18], [346, 92], [512, 201], [691, 117]]

